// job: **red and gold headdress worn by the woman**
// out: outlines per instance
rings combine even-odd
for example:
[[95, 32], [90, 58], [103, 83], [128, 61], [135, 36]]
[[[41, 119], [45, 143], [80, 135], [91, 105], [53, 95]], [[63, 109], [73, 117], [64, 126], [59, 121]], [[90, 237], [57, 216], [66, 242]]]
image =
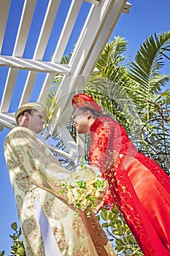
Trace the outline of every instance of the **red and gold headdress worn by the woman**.
[[100, 113], [103, 113], [98, 104], [86, 94], [76, 94], [72, 98], [72, 105], [74, 110], [77, 108], [90, 108], [92, 110], [97, 110]]

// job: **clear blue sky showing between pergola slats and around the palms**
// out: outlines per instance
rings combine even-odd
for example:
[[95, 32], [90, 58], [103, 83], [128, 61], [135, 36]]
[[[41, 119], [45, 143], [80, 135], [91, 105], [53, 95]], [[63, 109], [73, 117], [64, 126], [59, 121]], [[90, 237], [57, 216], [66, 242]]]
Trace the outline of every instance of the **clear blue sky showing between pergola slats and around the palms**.
[[[62, 8], [67, 8], [66, 2], [68, 3], [69, 0], [65, 0], [64, 6], [61, 6], [61, 13]], [[42, 4], [43, 3], [43, 4]], [[128, 61], [134, 61], [134, 56], [136, 54], [136, 50], [139, 49], [139, 46], [142, 44], [144, 39], [147, 37], [150, 37], [150, 35], [154, 35], [155, 33], [165, 32], [170, 30], [170, 20], [169, 20], [169, 10], [170, 10], [170, 1], [169, 0], [162, 0], [162, 1], [152, 1], [152, 0], [130, 0], [130, 3], [132, 4], [131, 12], [129, 14], [122, 14], [120, 16], [120, 19], [117, 22], [117, 25], [115, 26], [115, 29], [112, 33], [112, 36], [110, 37], [109, 41], [112, 41], [112, 39], [115, 36], [124, 37], [128, 41], [128, 47], [127, 51], [125, 52], [125, 55], [128, 58]], [[42, 6], [41, 6], [42, 4]], [[47, 4], [47, 0], [41, 0], [39, 1], [39, 5], [37, 7], [40, 8], [41, 12], [45, 10], [45, 4]], [[2, 49], [1, 54], [12, 54], [12, 44], [15, 43], [15, 33], [17, 29], [17, 17], [20, 15], [20, 7], [23, 5], [23, 0], [12, 0], [12, 8], [14, 8], [15, 15], [15, 22], [11, 22], [11, 27], [8, 31], [7, 36], [5, 37], [5, 43]], [[43, 7], [44, 6], [44, 7]], [[87, 5], [88, 8], [88, 5]], [[36, 19], [39, 17], [35, 17], [35, 24]], [[81, 12], [82, 19], [85, 18], [85, 13]], [[61, 29], [62, 24], [58, 24], [58, 30]], [[34, 36], [35, 31], [39, 29], [38, 27], [34, 27], [31, 30], [32, 36]], [[77, 31], [80, 30], [80, 26], [77, 24]], [[56, 41], [58, 39], [58, 34], [53, 33], [55, 37], [51, 37], [49, 42], [49, 47], [47, 52], [45, 53], [44, 60], [49, 60], [50, 56], [53, 54], [53, 50], [55, 48]], [[77, 35], [74, 35], [74, 38], [71, 38], [71, 42], [68, 45], [68, 53], [70, 50], [72, 50], [72, 45], [76, 42]], [[29, 47], [30, 45], [30, 47]], [[31, 42], [28, 42], [28, 46], [25, 50], [24, 56], [31, 56], [31, 54], [34, 54], [34, 45], [31, 44]], [[170, 62], [167, 62], [165, 70], [166, 73], [170, 74]], [[3, 86], [4, 80], [6, 78], [7, 72], [5, 72], [5, 69], [1, 68], [0, 70], [1, 75], [1, 88], [0, 88], [0, 100], [1, 95], [3, 92]], [[39, 75], [37, 80], [41, 80], [43, 75]], [[18, 82], [22, 82], [21, 79], [24, 79], [24, 75], [22, 75], [22, 72], [20, 72], [20, 75], [18, 75]], [[169, 88], [169, 86], [167, 87]], [[20, 97], [20, 94], [18, 95]], [[15, 102], [14, 102], [15, 104]], [[10, 106], [12, 108], [12, 105]], [[1, 191], [1, 197], [0, 197], [0, 206], [1, 206], [1, 219], [0, 219], [0, 251], [3, 249], [5, 250], [6, 254], [9, 255], [10, 253], [10, 246], [12, 246], [12, 239], [9, 238], [9, 234], [12, 235], [12, 229], [10, 225], [12, 222], [18, 222], [18, 214], [17, 209], [15, 206], [15, 198], [12, 192], [12, 187], [9, 181], [8, 171], [7, 167], [4, 161], [4, 152], [3, 152], [3, 143], [4, 138], [9, 132], [8, 129], [4, 129], [2, 132], [0, 132], [0, 159], [1, 159], [1, 179], [0, 179], [0, 191]]]

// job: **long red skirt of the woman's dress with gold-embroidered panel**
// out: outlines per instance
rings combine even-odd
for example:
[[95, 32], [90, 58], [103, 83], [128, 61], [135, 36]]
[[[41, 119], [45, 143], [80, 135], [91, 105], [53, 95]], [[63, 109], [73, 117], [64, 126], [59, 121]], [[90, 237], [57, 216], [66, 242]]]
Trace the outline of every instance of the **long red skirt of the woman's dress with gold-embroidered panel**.
[[145, 256], [170, 255], [170, 179], [139, 152], [123, 156], [105, 176], [109, 188]]

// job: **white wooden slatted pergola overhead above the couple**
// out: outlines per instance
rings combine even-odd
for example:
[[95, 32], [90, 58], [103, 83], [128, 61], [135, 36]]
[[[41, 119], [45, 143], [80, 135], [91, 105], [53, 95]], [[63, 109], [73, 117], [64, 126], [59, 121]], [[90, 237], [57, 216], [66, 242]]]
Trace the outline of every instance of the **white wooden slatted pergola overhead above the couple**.
[[[10, 18], [14, 1], [0, 1], [1, 53], [3, 53], [2, 49], [5, 46], [4, 36], [8, 29], [8, 19]], [[126, 2], [126, 0], [41, 0], [42, 3], [45, 2], [47, 4], [45, 14], [42, 13], [42, 23], [39, 25], [41, 29], [33, 56], [26, 56], [25, 58], [24, 52], [30, 28], [34, 26], [35, 12], [41, 13], [42, 11], [37, 7], [38, 1], [23, 0], [23, 9], [18, 23], [18, 31], [12, 54], [5, 53], [0, 55], [0, 69], [1, 67], [8, 69], [5, 84], [1, 84], [3, 86], [3, 94], [0, 105], [0, 130], [2, 131], [4, 127], [8, 129], [15, 127], [15, 110], [20, 105], [30, 102], [31, 93], [37, 86], [36, 78], [39, 73], [45, 73], [43, 83], [39, 85], [41, 88], [36, 100], [42, 104], [47, 99], [55, 74], [61, 74], [63, 79], [56, 95], [56, 105], [51, 121], [53, 125], [50, 126], [50, 131], [46, 131], [45, 138], [48, 135], [55, 137], [57, 133], [61, 135], [63, 143], [65, 143], [69, 151], [68, 156], [74, 159], [74, 156], [80, 154], [78, 150], [81, 146], [77, 145], [80, 145], [81, 142], [74, 143], [66, 129], [66, 124], [72, 114], [72, 96], [77, 92], [83, 91], [85, 88], [89, 75], [95, 70], [96, 62], [102, 50], [104, 50], [117, 20], [122, 12], [129, 12], [131, 4]], [[58, 17], [58, 12], [61, 11], [61, 4], [64, 3], [69, 4], [69, 9], [66, 13], [63, 12], [63, 20], [58, 20], [58, 23], [61, 22], [63, 26], [55, 49], [51, 53], [53, 54], [52, 59], [45, 61], [44, 56], [50, 35], [52, 31], [58, 31], [58, 23], [55, 21]], [[88, 12], [84, 23], [80, 24], [82, 29], [72, 52], [72, 58], [68, 65], [61, 64], [61, 59], [66, 53], [69, 40], [74, 37], [74, 25], [79, 22], [80, 11], [83, 13], [83, 8], [87, 10], [87, 6]], [[26, 80], [23, 80], [24, 87], [21, 97], [18, 102], [15, 102], [17, 107], [11, 110], [9, 107], [12, 103], [12, 94], [16, 90], [18, 73], [21, 69], [27, 71]]]

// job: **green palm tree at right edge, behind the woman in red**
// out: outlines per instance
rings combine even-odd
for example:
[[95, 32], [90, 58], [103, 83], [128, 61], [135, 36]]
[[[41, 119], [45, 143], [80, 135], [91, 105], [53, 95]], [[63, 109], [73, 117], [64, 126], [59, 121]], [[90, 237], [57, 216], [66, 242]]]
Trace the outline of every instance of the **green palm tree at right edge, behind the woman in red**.
[[136, 110], [142, 120], [143, 143], [141, 151], [155, 159], [167, 173], [169, 162], [169, 99], [170, 91], [162, 91], [169, 82], [169, 75], [161, 75], [165, 64], [163, 59], [169, 59], [170, 31], [150, 36], [136, 53], [136, 59], [131, 62], [129, 77], [134, 80], [134, 86], [127, 88], [128, 93], [136, 103]]

